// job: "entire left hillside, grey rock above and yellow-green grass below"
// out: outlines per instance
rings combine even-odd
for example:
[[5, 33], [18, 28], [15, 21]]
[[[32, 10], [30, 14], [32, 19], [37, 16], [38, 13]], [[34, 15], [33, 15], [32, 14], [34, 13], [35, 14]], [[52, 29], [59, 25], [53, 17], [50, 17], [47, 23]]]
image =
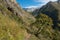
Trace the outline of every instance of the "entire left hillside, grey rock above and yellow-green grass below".
[[34, 21], [15, 0], [0, 0], [0, 40], [25, 40], [23, 28]]

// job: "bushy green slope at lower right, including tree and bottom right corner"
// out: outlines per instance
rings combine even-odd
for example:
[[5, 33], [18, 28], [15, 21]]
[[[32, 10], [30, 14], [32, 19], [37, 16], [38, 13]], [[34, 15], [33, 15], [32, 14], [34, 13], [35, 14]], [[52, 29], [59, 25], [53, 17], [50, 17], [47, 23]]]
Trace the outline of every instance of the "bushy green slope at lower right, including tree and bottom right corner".
[[53, 29], [53, 20], [49, 16], [40, 13], [36, 19], [35, 23], [27, 27], [28, 33], [38, 38], [31, 36], [31, 40], [60, 40], [60, 31]]

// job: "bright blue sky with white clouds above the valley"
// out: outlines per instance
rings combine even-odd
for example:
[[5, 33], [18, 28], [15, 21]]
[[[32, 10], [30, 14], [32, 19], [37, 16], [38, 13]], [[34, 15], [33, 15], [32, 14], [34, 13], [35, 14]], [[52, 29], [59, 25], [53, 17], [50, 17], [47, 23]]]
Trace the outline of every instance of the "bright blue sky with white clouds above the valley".
[[45, 5], [49, 1], [57, 0], [16, 0], [22, 8], [37, 8]]

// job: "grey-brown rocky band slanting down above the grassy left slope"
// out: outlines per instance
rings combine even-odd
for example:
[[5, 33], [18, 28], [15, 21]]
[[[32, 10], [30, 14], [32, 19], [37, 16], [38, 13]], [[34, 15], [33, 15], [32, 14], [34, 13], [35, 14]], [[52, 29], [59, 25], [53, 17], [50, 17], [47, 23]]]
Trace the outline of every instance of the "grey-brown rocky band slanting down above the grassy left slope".
[[4, 5], [8, 10], [10, 10], [18, 17], [20, 17], [25, 23], [29, 24], [29, 22], [35, 20], [35, 18], [32, 15], [30, 15], [29, 13], [22, 10], [22, 8], [20, 8], [20, 6], [16, 3], [16, 0], [2, 0], [2, 1], [4, 2]]

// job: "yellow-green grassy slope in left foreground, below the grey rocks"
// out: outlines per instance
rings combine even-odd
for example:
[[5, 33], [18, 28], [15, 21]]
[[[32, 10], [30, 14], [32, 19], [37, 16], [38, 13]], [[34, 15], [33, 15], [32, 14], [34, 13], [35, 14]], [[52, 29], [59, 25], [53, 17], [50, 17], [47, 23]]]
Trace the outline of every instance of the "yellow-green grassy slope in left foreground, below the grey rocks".
[[12, 17], [11, 14], [5, 7], [0, 11], [0, 40], [23, 40], [24, 31], [20, 28], [23, 27], [22, 21], [18, 23], [18, 18], [15, 20], [16, 16]]

